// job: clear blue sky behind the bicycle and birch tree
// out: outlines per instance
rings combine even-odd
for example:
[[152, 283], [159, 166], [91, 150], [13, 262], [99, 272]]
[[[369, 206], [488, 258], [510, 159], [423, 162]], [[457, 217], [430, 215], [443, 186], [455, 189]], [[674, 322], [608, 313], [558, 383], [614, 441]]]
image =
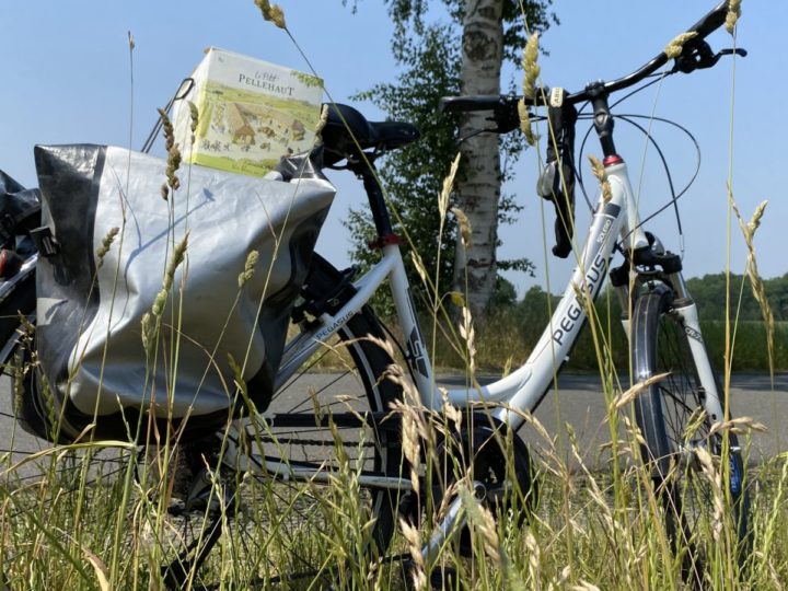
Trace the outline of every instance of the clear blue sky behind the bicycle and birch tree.
[[[396, 68], [389, 48], [392, 25], [380, 0], [359, 0], [356, 14], [339, 0], [280, 0], [280, 4], [293, 36], [335, 101], [350, 102], [348, 96], [355, 92], [394, 79]], [[554, 9], [561, 24], [542, 37], [542, 46], [549, 53], [541, 58], [543, 81], [571, 91], [591, 80], [627, 73], [712, 5], [711, 0], [557, 0]], [[756, 236], [762, 275], [774, 277], [788, 271], [788, 199], [780, 176], [786, 169], [781, 144], [786, 124], [779, 109], [788, 73], [787, 22], [788, 2], [745, 0], [738, 45], [750, 51], [748, 58], [738, 59], [735, 67], [733, 60], [725, 59], [711, 70], [672, 77], [660, 89], [650, 89], [617, 109], [645, 115], [653, 112], [675, 119], [700, 143], [700, 174], [681, 200], [688, 276], [720, 271], [728, 264], [729, 171], [745, 217], [761, 200], [769, 200]], [[136, 42], [134, 89], [128, 31]], [[709, 42], [719, 49], [730, 46], [731, 38], [718, 32]], [[155, 108], [166, 103], [210, 45], [305, 69], [287, 35], [264, 23], [252, 0], [2, 2], [0, 169], [32, 186], [36, 184], [36, 143], [130, 142], [139, 148], [155, 121]], [[381, 116], [369, 105], [356, 106], [372, 119]], [[665, 202], [664, 175], [654, 152], [645, 152], [642, 138], [624, 128], [617, 128], [619, 152], [631, 166], [633, 184], [648, 212]], [[579, 135], [583, 132], [579, 130]], [[656, 125], [652, 132], [669, 152], [676, 185], [683, 186], [694, 167], [692, 144], [664, 126]], [[599, 154], [599, 148], [590, 143], [587, 153]], [[646, 162], [642, 177], [641, 162]], [[534, 190], [537, 172], [536, 154], [531, 150], [518, 164], [517, 178], [508, 187], [524, 209], [515, 225], [500, 232], [502, 257], [529, 256], [538, 267], [535, 279], [510, 277], [521, 292], [534, 283], [547, 287], [547, 275], [551, 290], [557, 291], [571, 267], [543, 254], [544, 228], [552, 245], [553, 212], [552, 207], [544, 209], [547, 221], [543, 224], [542, 204]], [[588, 178], [588, 166], [584, 172]], [[363, 196], [347, 174], [335, 174], [332, 179], [338, 195], [320, 250], [344, 264], [348, 236], [340, 220], [348, 207], [362, 205]], [[578, 224], [584, 235], [588, 213], [580, 204]], [[664, 212], [649, 228], [676, 250], [675, 225], [672, 212]], [[742, 271], [745, 253], [735, 225], [730, 235], [730, 266]]]

